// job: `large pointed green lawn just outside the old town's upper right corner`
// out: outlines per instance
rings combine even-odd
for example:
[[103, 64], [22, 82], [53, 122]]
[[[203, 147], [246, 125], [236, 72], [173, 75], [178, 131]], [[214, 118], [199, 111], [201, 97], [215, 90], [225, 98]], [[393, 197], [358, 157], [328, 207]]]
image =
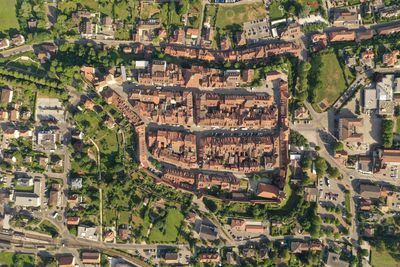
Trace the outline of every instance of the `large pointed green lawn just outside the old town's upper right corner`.
[[319, 53], [311, 61], [312, 80], [320, 81], [321, 86], [314, 92], [313, 107], [317, 110], [326, 110], [346, 90], [346, 80], [342, 68], [334, 52]]

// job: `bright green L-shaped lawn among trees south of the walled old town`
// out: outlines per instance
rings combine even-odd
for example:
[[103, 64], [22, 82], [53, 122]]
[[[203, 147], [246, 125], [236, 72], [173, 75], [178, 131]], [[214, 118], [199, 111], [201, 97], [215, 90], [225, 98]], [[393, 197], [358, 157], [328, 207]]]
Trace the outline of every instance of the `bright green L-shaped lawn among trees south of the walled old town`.
[[179, 229], [183, 221], [182, 213], [176, 208], [169, 209], [165, 220], [165, 229], [153, 227], [150, 232], [150, 242], [174, 242], [178, 237]]

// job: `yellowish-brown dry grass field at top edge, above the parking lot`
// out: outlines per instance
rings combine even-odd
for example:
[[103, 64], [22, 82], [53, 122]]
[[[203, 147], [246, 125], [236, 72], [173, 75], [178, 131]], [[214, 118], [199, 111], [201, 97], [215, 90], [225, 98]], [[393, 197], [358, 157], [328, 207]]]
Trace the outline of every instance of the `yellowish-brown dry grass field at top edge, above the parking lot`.
[[217, 12], [215, 9], [215, 6], [208, 5], [206, 16], [212, 18], [216, 16], [215, 27], [220, 29], [225, 29], [233, 24], [241, 25], [246, 21], [265, 18], [267, 15], [262, 2], [243, 5], [219, 5]]

